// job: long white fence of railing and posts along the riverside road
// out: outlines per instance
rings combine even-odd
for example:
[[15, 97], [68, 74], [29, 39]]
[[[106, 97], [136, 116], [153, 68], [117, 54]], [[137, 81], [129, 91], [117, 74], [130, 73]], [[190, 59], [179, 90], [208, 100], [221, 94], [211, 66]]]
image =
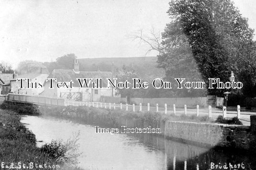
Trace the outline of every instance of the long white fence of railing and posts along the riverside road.
[[[173, 104], [173, 106], [168, 106], [167, 104], [164, 104], [164, 106], [158, 106], [156, 105], [150, 105], [149, 103], [147, 105], [142, 105], [141, 103], [138, 106], [128, 105], [128, 104], [115, 104], [115, 103], [99, 103], [99, 102], [77, 102], [77, 101], [71, 101], [66, 100], [64, 98], [57, 98], [57, 97], [47, 97], [47, 96], [29, 96], [29, 95], [21, 95], [21, 94], [9, 94], [7, 97], [8, 101], [13, 102], [20, 102], [20, 103], [33, 103], [37, 105], [50, 105], [50, 106], [88, 106], [88, 107], [104, 107], [109, 109], [121, 109], [126, 111], [156, 111], [156, 112], [162, 112], [164, 114], [173, 113], [177, 114], [177, 110], [179, 109], [179, 113], [181, 113], [181, 109], [183, 109], [183, 114], [187, 115], [187, 108], [196, 109], [196, 116], [199, 116], [199, 105], [196, 105], [196, 107], [191, 106], [176, 106]], [[217, 99], [217, 98], [216, 98]], [[222, 102], [222, 99], [217, 99], [216, 101], [220, 100], [219, 103]], [[217, 102], [218, 103], [218, 102]], [[135, 108], [136, 107], [136, 108]], [[212, 118], [212, 106], [207, 106], [208, 109], [208, 117]], [[204, 109], [206, 109], [204, 108]], [[202, 108], [201, 108], [202, 109]], [[227, 117], [227, 110], [226, 107], [223, 106], [223, 117]], [[240, 106], [237, 106], [237, 117], [240, 118]]]

